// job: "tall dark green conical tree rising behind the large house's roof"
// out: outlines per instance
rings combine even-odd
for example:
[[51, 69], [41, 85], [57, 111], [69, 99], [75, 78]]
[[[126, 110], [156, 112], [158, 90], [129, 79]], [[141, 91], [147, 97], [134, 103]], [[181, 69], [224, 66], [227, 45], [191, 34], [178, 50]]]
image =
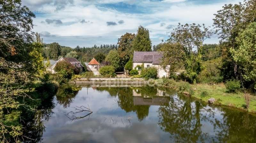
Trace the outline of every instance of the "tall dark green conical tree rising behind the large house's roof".
[[132, 42], [133, 51], [151, 51], [151, 40], [149, 38], [148, 29], [139, 26], [137, 34]]

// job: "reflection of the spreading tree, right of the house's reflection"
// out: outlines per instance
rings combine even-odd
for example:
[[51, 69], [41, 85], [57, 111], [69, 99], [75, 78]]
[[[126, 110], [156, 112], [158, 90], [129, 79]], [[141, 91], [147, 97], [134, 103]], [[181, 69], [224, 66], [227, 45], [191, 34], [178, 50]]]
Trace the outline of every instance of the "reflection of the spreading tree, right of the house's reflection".
[[[170, 132], [178, 143], [205, 142], [207, 134], [202, 132], [201, 121], [214, 116], [213, 112], [206, 115], [207, 111], [199, 101], [192, 102], [191, 98], [172, 96], [170, 103], [160, 106], [159, 125], [165, 132]], [[207, 111], [208, 112], [208, 111]]]

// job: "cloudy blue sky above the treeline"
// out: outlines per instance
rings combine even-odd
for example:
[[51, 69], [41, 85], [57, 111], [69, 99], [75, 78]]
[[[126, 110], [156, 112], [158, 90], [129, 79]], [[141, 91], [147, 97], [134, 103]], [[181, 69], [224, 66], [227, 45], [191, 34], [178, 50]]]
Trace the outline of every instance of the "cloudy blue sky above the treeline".
[[[91, 47], [116, 44], [140, 25], [149, 30], [152, 45], [168, 39], [178, 23], [213, 24], [214, 13], [224, 4], [242, 0], [23, 0], [36, 14], [34, 32], [44, 43]], [[210, 28], [212, 31], [213, 29]], [[213, 34], [205, 44], [218, 43]]]

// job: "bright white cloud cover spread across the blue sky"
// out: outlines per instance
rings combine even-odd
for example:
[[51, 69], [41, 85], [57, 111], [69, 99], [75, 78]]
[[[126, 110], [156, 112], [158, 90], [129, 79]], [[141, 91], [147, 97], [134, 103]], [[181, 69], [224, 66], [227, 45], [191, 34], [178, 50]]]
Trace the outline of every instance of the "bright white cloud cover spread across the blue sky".
[[[131, 4], [137, 4], [138, 6], [149, 6], [148, 9], [150, 12], [144, 14], [138, 13], [122, 13], [113, 8], [100, 7], [97, 4], [105, 3], [118, 3], [121, 0], [66, 0], [65, 8], [56, 11], [55, 13], [41, 14], [37, 15], [34, 19], [34, 24], [37, 25], [34, 27], [35, 32], [44, 32], [47, 31], [52, 35], [59, 35], [62, 37], [69, 36], [84, 36], [84, 37], [102, 37], [103, 39], [108, 39], [108, 41], [102, 41], [104, 43], [115, 44], [117, 38], [123, 35], [126, 32], [136, 32], [139, 25], [142, 25], [150, 31], [150, 38], [152, 39], [153, 44], [158, 44], [161, 42], [159, 37], [167, 38], [168, 33], [179, 22], [184, 23], [199, 23], [205, 24], [206, 26], [212, 26], [213, 14], [216, 11], [220, 10], [221, 7], [226, 3], [236, 3], [236, 1], [225, 1], [220, 3], [212, 4], [193, 4], [191, 2], [186, 2], [185, 0], [169, 0], [164, 2], [150, 2], [143, 1], [137, 3], [132, 1]], [[122, 1], [124, 3], [129, 3], [128, 1]], [[181, 3], [179, 3], [181, 2]], [[25, 0], [24, 3], [30, 5], [43, 6], [43, 9], [52, 10], [56, 9], [59, 4], [59, 0], [46, 0], [46, 1], [32, 1]], [[72, 4], [71, 4], [72, 3]], [[55, 4], [55, 5], [54, 5]], [[132, 10], [131, 10], [132, 11]], [[56, 24], [47, 24], [46, 19], [51, 20], [60, 20], [61, 25]], [[123, 20], [124, 23], [120, 24], [120, 20]], [[85, 22], [86, 21], [86, 22]], [[49, 22], [49, 20], [48, 20]], [[107, 22], [116, 23], [116, 25], [108, 26]], [[56, 23], [56, 21], [55, 21]], [[123, 32], [123, 33], [122, 33]], [[58, 36], [55, 38], [57, 39]], [[109, 39], [107, 37], [112, 37], [115, 39]], [[91, 39], [91, 38], [89, 38]], [[54, 40], [53, 38], [50, 41]], [[66, 43], [65, 41], [58, 41], [61, 43]], [[50, 42], [49, 41], [49, 42]], [[81, 41], [79, 43], [85, 43], [84, 45], [93, 46], [92, 41]], [[214, 40], [212, 40], [214, 41]], [[215, 43], [218, 41], [215, 38]], [[45, 40], [45, 42], [48, 42]], [[78, 45], [76, 43], [72, 44], [73, 47]], [[84, 46], [80, 45], [80, 46]]]

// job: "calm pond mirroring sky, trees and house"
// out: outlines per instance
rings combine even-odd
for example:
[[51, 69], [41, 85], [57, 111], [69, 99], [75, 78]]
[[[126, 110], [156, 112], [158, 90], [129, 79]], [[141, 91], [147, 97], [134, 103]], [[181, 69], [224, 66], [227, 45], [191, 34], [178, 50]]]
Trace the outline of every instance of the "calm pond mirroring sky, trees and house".
[[[66, 85], [41, 118], [44, 143], [255, 143], [256, 117], [150, 86]], [[49, 109], [49, 108], [47, 108]]]

